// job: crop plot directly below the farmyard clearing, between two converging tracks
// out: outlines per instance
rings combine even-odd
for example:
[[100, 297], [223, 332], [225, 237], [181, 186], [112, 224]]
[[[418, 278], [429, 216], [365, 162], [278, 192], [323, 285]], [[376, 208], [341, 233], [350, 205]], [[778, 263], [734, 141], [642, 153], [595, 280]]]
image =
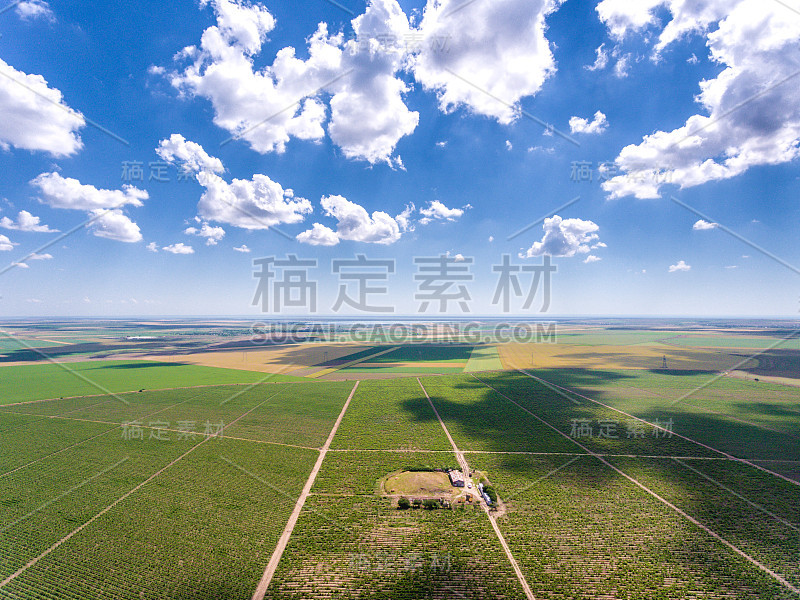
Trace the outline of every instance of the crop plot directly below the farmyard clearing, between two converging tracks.
[[311, 496], [267, 598], [525, 597], [473, 507], [398, 511], [388, 499]]

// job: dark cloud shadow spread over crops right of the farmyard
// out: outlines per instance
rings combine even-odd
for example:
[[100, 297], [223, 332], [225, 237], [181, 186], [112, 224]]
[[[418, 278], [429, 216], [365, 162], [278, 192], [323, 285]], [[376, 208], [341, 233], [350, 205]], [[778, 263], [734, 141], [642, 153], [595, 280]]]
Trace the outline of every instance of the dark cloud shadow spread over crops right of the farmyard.
[[[620, 398], [624, 399], [625, 389], [614, 391], [613, 385], [609, 384], [623, 382], [632, 377], [618, 372], [603, 371], [535, 371], [535, 374], [548, 381], [557, 380], [559, 385], [576, 389], [612, 406]], [[796, 565], [800, 561], [799, 534], [796, 529], [781, 523], [766, 511], [788, 520], [794, 527], [800, 527], [800, 515], [796, 510], [796, 506], [800, 503], [800, 488], [739, 462], [684, 460], [722, 486], [736, 491], [751, 503], [766, 509], [766, 511], [760, 510], [721, 485], [708, 481], [670, 458], [671, 456], [724, 458], [718, 452], [677, 436], [655, 435], [652, 429], [647, 429], [641, 439], [629, 438], [626, 434], [628, 418], [624, 415], [588, 401], [575, 405], [564, 396], [524, 375], [481, 373], [478, 377], [565, 433], [567, 437], [558, 435], [472, 377], [423, 379], [436, 409], [461, 450], [585, 452], [575, 443], [578, 442], [598, 454], [641, 456], [643, 458], [616, 457], [607, 460], [756, 560], [775, 570], [783, 571], [784, 575], [796, 576]], [[592, 389], [600, 386], [606, 386], [606, 389], [599, 391]], [[669, 402], [671, 400], [665, 398], [660, 404], [653, 405], [653, 399], [650, 398], [647, 403], [643, 403], [641, 410], [635, 408], [628, 410], [633, 410], [636, 416], [650, 422], [659, 419], [664, 423], [665, 420], [672, 419], [675, 433], [734, 456], [800, 460], [800, 441], [795, 436], [767, 431], [754, 424], [736, 422], [725, 415], [698, 413], [691, 406], [681, 404], [670, 406]], [[424, 410], [425, 405], [420, 402], [406, 402], [404, 408], [420, 421], [435, 419], [430, 410]], [[774, 405], [771, 409], [783, 410]], [[738, 410], [736, 405], [732, 410]], [[598, 438], [596, 436], [598, 421], [612, 418], [614, 415], [620, 419], [617, 428], [618, 439]], [[796, 413], [793, 416], [796, 417]], [[573, 438], [574, 441], [568, 439], [572, 437], [570, 431], [572, 419], [589, 420], [595, 426], [595, 436]], [[644, 458], [650, 456], [656, 458]], [[658, 456], [661, 458], [657, 458]], [[665, 508], [660, 501], [636, 488], [633, 483], [595, 457], [582, 457], [577, 459], [574, 465], [569, 466], [564, 466], [571, 458], [569, 455], [467, 453], [466, 457], [472, 465], [488, 464], [490, 469], [497, 469], [499, 472], [495, 473], [496, 479], [502, 479], [506, 485], [509, 485], [508, 482], [513, 482], [513, 490], [504, 489], [502, 483], [498, 486], [501, 498], [503, 494], [518, 494], [511, 501], [512, 511], [515, 510], [515, 506], [519, 507], [520, 503], [527, 502], [528, 504], [521, 509], [523, 512], [537, 513], [542, 510], [544, 514], [560, 513], [565, 516], [564, 518], [581, 521], [575, 523], [576, 527], [583, 526], [588, 519], [622, 528], [627, 524], [626, 514], [636, 516], [635, 513], [639, 510], [642, 511], [641, 514], [651, 515], [661, 514], [663, 510], [671, 512], [681, 527], [677, 537], [672, 537], [671, 541], [676, 549], [673, 560], [685, 564], [690, 572], [702, 573], [707, 581], [728, 578], [728, 583], [734, 586], [734, 591], [737, 585], [742, 590], [748, 588], [750, 592], [754, 588], [758, 590], [757, 594], [747, 594], [747, 597], [777, 597], [775, 592], [780, 586], [774, 584], [769, 577], [762, 576], [753, 568], [743, 567], [731, 551], [707, 538], [706, 534], [691, 522]], [[549, 471], [559, 467], [563, 468], [556, 473], [548, 474]], [[490, 479], [492, 475], [493, 473], [488, 473]], [[532, 498], [537, 498], [537, 491], [553, 485], [568, 491], [566, 497], [557, 496], [561, 498], [563, 506], [540, 509], [531, 505]], [[618, 502], [614, 496], [616, 492], [613, 489], [609, 489], [607, 495], [603, 492], [612, 485], [616, 489], [621, 486], [627, 490], [626, 493], [634, 497], [641, 495], [641, 502], [629, 501], [615, 508]], [[519, 492], [526, 486], [531, 490], [531, 495], [527, 497], [524, 491]], [[598, 494], [603, 499], [602, 503], [591, 505], [591, 499], [596, 498]], [[538, 498], [540, 502], [542, 498], [546, 501], [547, 495]], [[557, 539], [550, 541], [556, 546], [560, 543]], [[605, 542], [598, 543], [603, 545], [602, 549], [597, 549], [598, 552], [611, 554], [617, 550], [622, 554], [626, 552], [624, 548], [614, 546], [609, 548], [604, 545]], [[683, 550], [687, 548], [695, 548], [696, 551], [684, 552]], [[576, 552], [584, 550], [576, 548]], [[709, 553], [713, 556], [709, 557]], [[608, 576], [614, 577], [613, 570]]]

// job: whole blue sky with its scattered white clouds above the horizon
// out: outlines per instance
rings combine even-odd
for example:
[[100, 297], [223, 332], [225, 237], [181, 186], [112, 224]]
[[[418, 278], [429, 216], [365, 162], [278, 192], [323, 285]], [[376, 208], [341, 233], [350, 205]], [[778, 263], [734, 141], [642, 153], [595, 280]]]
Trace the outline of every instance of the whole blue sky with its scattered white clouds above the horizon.
[[339, 4], [0, 13], [2, 268], [58, 239], [0, 275], [0, 314], [258, 314], [252, 260], [287, 253], [318, 261], [320, 314], [333, 259], [396, 260], [415, 314], [413, 259], [445, 253], [474, 258], [474, 315], [503, 254], [552, 255], [549, 315], [797, 314], [800, 13]]

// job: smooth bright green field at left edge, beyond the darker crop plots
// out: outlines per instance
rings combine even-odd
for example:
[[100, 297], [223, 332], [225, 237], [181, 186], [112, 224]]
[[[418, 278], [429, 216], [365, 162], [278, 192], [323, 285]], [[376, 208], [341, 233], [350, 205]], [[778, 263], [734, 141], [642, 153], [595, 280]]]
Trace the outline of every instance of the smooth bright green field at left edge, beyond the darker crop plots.
[[146, 361], [91, 361], [0, 367], [0, 404], [140, 389], [290, 381], [253, 371]]

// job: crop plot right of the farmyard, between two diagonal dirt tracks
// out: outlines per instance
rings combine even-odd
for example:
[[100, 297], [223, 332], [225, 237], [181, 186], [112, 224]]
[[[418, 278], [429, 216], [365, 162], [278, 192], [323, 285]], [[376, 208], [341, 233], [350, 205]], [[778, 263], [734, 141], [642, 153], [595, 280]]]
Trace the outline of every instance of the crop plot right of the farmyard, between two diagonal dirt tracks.
[[593, 457], [480, 455], [470, 463], [490, 474], [506, 504], [498, 524], [537, 598], [793, 597]]

